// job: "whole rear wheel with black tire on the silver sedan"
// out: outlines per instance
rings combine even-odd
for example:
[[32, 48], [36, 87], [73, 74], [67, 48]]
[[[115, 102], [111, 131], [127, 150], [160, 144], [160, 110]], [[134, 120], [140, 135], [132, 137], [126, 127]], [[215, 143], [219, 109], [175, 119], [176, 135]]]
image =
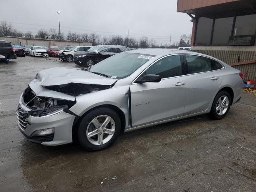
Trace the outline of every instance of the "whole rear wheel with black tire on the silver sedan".
[[228, 114], [230, 106], [231, 106], [231, 96], [229, 92], [225, 90], [219, 92], [213, 100], [212, 108], [209, 113], [210, 118], [214, 120], [220, 120], [224, 118], [226, 114]]

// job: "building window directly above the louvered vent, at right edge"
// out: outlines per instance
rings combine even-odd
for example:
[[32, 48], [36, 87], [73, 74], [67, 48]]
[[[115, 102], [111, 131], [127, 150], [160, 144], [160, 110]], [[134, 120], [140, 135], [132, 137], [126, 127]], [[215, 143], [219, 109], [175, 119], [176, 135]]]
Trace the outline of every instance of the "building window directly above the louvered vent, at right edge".
[[243, 15], [236, 17], [234, 36], [237, 35], [255, 35], [256, 32], [256, 14]]

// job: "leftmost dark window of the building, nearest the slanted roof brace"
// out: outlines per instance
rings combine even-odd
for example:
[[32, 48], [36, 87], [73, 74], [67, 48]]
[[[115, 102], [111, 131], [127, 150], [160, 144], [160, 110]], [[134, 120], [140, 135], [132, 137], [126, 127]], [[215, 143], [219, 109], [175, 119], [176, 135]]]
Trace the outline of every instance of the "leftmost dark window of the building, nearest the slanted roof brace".
[[196, 29], [196, 45], [210, 45], [213, 19], [200, 17]]

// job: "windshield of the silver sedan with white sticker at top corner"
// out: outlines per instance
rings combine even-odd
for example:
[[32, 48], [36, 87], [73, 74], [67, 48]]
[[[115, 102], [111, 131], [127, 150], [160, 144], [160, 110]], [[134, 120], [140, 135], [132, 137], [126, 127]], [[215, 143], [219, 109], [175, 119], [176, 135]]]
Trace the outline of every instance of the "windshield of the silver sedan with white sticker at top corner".
[[90, 68], [90, 72], [106, 74], [110, 78], [122, 79], [130, 76], [140, 66], [145, 64], [148, 58], [154, 55], [137, 53], [119, 53], [107, 58]]

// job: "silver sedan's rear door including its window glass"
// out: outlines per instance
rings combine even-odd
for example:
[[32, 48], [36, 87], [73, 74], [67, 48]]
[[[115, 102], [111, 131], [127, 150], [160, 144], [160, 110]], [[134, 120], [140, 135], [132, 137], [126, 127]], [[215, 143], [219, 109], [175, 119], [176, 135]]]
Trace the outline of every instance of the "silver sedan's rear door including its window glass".
[[[210, 58], [184, 55], [186, 62], [186, 103], [184, 115], [205, 111], [222, 82], [222, 65]], [[218, 64], [217, 64], [218, 63]]]

